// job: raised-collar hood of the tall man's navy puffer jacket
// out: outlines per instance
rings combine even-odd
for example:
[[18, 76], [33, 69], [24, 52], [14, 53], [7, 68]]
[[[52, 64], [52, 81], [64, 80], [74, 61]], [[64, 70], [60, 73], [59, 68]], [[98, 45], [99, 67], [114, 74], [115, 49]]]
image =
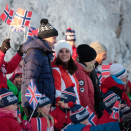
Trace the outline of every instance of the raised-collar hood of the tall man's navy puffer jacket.
[[26, 53], [27, 50], [31, 49], [31, 48], [38, 48], [38, 49], [42, 49], [42, 50], [47, 50], [48, 52], [53, 52], [49, 46], [47, 45], [47, 43], [45, 41], [42, 41], [41, 39], [39, 39], [37, 36], [33, 35], [32, 37], [30, 37], [25, 44], [23, 45], [23, 53]]

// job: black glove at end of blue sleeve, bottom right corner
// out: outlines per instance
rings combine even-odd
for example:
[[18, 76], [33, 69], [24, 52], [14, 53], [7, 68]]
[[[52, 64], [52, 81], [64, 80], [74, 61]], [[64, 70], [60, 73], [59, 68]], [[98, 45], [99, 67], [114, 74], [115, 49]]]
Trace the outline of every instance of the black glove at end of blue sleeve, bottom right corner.
[[121, 130], [131, 131], [131, 119], [127, 120], [126, 122], [120, 122], [119, 127], [120, 127]]

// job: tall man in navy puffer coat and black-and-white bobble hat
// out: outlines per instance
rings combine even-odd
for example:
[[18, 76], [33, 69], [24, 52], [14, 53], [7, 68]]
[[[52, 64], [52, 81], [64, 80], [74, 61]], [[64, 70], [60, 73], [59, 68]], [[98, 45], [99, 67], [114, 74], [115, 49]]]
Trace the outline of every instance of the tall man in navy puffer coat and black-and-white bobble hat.
[[32, 36], [23, 46], [26, 56], [23, 60], [21, 97], [27, 119], [29, 119], [32, 109], [25, 93], [31, 79], [41, 94], [50, 98], [52, 103], [55, 102], [55, 86], [50, 62], [53, 58], [52, 48], [57, 42], [58, 31], [48, 23], [47, 19], [42, 19], [40, 23], [38, 36]]

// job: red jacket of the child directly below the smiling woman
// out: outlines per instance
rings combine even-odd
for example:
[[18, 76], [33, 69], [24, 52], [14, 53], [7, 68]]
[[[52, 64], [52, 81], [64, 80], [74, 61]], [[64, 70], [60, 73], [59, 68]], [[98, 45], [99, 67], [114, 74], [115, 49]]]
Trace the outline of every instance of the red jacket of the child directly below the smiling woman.
[[69, 124], [71, 122], [69, 111], [66, 114], [58, 106], [56, 106], [55, 110], [50, 112], [50, 115], [54, 118], [55, 128], [58, 130], [64, 127], [64, 123]]

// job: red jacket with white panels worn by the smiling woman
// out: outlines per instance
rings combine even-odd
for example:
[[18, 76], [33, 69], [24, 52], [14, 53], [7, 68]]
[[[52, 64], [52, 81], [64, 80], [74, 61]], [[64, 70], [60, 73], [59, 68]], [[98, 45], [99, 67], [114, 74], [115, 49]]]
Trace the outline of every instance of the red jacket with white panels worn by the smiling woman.
[[[55, 60], [54, 60], [55, 61]], [[62, 65], [57, 66], [54, 64], [54, 61], [51, 63], [53, 69], [54, 84], [56, 89], [56, 102], [59, 101], [62, 91], [70, 87], [72, 83], [75, 84], [74, 90], [76, 92], [77, 100], [76, 103], [80, 104], [79, 99], [79, 83], [75, 74], [71, 75], [68, 73]]]

